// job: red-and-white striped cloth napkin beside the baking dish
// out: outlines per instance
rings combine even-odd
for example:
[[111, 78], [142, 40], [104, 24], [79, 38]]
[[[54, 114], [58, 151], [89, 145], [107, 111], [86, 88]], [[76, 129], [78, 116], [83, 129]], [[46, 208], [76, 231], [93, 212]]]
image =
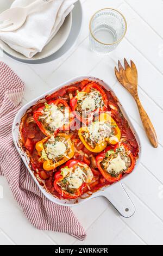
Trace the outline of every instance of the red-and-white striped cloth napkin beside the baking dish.
[[84, 240], [85, 231], [71, 209], [43, 196], [12, 142], [12, 122], [21, 107], [23, 93], [24, 83], [0, 62], [0, 175], [5, 176], [24, 215], [37, 229], [63, 232]]

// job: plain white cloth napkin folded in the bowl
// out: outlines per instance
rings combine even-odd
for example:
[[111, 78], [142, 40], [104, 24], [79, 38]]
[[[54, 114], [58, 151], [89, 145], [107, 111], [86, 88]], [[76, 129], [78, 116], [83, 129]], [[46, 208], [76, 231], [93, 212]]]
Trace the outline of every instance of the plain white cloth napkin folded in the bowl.
[[[15, 0], [12, 7], [24, 7], [35, 0]], [[57, 34], [74, 3], [78, 0], [54, 0], [36, 7], [24, 25], [14, 32], [1, 32], [0, 38], [27, 58], [41, 52]]]

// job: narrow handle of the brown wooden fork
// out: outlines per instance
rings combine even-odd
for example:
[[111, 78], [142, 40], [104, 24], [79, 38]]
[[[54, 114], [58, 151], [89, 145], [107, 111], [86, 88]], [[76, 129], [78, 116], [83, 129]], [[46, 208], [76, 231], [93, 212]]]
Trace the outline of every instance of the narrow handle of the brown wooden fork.
[[151, 120], [148, 117], [148, 114], [146, 113], [145, 109], [141, 105], [141, 102], [139, 100], [139, 97], [136, 97], [136, 103], [137, 107], [139, 108], [140, 117], [143, 123], [143, 126], [145, 128], [147, 137], [149, 138], [149, 141], [153, 145], [154, 148], [158, 148], [158, 138], [156, 136], [155, 129], [153, 127], [153, 124]]

